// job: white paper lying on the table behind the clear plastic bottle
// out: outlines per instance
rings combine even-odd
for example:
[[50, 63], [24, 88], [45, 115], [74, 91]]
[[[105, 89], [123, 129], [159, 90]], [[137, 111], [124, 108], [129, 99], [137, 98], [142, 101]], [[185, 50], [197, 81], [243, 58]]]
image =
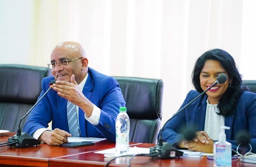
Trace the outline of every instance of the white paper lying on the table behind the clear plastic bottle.
[[[96, 151], [94, 153], [98, 154], [107, 154], [107, 157], [115, 156], [115, 148], [110, 148], [106, 150]], [[141, 147], [130, 147], [127, 155], [135, 155], [135, 154], [149, 154], [149, 148], [141, 148]]]

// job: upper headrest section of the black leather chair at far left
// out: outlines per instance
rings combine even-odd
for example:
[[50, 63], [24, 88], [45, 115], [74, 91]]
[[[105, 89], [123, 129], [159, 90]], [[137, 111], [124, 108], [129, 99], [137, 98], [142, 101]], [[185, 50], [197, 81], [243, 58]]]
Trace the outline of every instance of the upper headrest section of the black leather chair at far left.
[[41, 92], [41, 80], [47, 67], [0, 65], [0, 101], [35, 103]]

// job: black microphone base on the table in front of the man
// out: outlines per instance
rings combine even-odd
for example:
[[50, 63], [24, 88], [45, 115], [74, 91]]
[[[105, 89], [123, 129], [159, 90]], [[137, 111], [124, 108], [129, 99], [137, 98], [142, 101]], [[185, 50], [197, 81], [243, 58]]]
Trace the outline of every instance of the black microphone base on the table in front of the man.
[[21, 135], [15, 134], [13, 137], [9, 137], [8, 142], [17, 141], [17, 143], [10, 144], [8, 146], [12, 147], [31, 147], [31, 146], [37, 146], [41, 144], [40, 140], [37, 140], [30, 136], [28, 133], [21, 133]]

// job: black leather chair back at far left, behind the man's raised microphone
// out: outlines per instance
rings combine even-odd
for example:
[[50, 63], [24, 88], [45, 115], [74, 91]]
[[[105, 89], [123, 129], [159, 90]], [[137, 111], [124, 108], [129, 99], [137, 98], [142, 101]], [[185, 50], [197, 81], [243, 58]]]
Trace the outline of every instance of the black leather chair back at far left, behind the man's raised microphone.
[[19, 120], [37, 101], [41, 80], [47, 75], [47, 67], [0, 65], [0, 129], [17, 131]]

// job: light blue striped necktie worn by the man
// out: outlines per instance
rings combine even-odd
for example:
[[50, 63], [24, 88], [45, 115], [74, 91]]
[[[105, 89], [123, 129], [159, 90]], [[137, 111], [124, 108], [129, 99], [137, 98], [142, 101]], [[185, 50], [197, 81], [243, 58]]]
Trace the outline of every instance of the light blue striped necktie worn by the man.
[[73, 137], [80, 137], [76, 106], [70, 101], [67, 102], [67, 116], [69, 132]]

